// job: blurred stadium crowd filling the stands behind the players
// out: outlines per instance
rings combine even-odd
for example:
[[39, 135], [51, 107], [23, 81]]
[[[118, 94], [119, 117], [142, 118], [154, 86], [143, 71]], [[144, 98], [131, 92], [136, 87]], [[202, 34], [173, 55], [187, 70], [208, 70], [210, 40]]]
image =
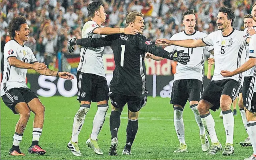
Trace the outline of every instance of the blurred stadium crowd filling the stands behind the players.
[[[145, 17], [144, 35], [155, 41], [170, 38], [184, 30], [182, 13], [193, 9], [196, 14], [196, 30], [207, 34], [217, 30], [216, 16], [221, 6], [227, 6], [236, 14], [234, 28], [243, 30], [243, 16], [251, 12], [250, 0], [98, 0], [104, 4], [107, 13], [104, 26], [125, 27], [125, 17], [129, 11], [142, 12]], [[92, 0], [1, 0], [1, 60], [3, 48], [10, 36], [7, 32], [12, 17], [22, 15], [27, 19], [31, 31], [29, 46], [39, 62], [49, 67], [55, 66], [57, 52], [69, 54], [67, 41], [81, 38], [85, 22], [90, 20], [87, 6]], [[106, 47], [104, 53], [113, 53]], [[74, 54], [80, 54], [76, 46]], [[3, 64], [3, 63], [2, 63]], [[1, 67], [3, 69], [3, 67]]]

